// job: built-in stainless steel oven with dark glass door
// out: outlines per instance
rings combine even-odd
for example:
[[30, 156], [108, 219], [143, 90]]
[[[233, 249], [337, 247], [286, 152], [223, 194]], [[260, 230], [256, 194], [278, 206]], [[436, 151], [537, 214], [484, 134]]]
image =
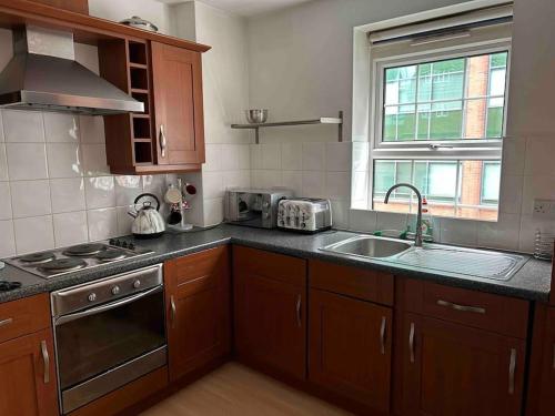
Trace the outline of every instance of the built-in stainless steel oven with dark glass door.
[[162, 265], [52, 293], [62, 414], [167, 364]]

